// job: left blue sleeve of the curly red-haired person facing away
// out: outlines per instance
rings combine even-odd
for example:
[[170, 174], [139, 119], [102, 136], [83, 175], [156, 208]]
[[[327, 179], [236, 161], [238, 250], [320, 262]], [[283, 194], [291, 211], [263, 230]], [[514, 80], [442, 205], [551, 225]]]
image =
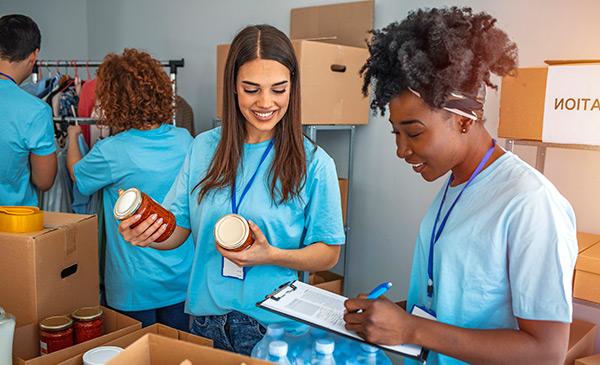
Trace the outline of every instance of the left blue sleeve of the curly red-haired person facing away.
[[110, 164], [101, 146], [101, 142], [96, 143], [73, 168], [77, 189], [84, 195], [92, 195], [114, 182]]

